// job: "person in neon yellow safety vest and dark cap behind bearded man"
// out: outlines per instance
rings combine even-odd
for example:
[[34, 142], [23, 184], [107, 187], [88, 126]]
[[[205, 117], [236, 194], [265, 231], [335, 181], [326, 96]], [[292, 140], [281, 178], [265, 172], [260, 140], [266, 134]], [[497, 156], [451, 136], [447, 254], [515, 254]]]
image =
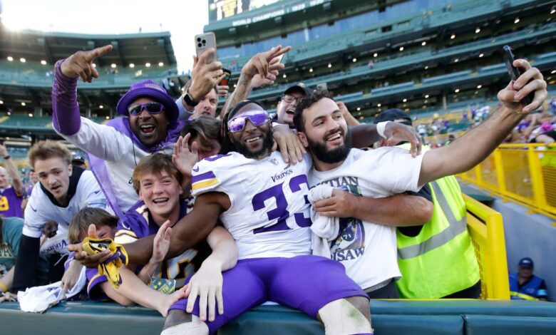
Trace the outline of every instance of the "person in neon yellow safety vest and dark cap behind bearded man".
[[[412, 125], [401, 109], [386, 110], [375, 123], [395, 121]], [[398, 143], [398, 147], [409, 148]], [[423, 150], [429, 150], [423, 145]], [[429, 183], [433, 216], [423, 226], [398, 227], [396, 282], [403, 298], [478, 298], [480, 273], [475, 249], [467, 230], [465, 202], [453, 176]]]

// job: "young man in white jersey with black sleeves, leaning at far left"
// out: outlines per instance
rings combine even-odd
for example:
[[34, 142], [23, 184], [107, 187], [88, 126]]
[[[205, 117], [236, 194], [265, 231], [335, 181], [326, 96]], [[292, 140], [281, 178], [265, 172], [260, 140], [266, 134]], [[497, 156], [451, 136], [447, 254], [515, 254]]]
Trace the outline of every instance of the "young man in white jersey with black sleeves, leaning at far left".
[[[31, 287], [38, 262], [38, 251], [43, 227], [48, 221], [58, 223], [58, 234], [66, 234], [69, 222], [83, 207], [106, 206], [106, 200], [93, 172], [71, 165], [70, 151], [59, 142], [41, 141], [29, 150], [29, 163], [38, 175], [27, 207], [21, 237], [14, 291]], [[76, 260], [62, 277], [63, 289], [71, 289], [81, 272]]]

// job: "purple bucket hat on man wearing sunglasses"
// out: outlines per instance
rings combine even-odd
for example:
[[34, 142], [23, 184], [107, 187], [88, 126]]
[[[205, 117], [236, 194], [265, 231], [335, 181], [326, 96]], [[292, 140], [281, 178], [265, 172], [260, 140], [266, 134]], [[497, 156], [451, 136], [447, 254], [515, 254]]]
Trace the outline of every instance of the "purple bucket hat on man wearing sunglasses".
[[168, 93], [166, 93], [166, 90], [158, 85], [158, 83], [150, 80], [138, 81], [137, 83], [134, 83], [129, 91], [125, 92], [122, 98], [118, 101], [118, 105], [116, 105], [116, 112], [120, 115], [127, 116], [129, 114], [129, 105], [133, 103], [134, 100], [142, 97], [151, 98], [159, 103], [162, 103], [164, 105], [164, 109], [166, 110], [168, 121], [170, 121], [170, 123], [175, 123], [179, 112], [174, 99], [169, 96]]

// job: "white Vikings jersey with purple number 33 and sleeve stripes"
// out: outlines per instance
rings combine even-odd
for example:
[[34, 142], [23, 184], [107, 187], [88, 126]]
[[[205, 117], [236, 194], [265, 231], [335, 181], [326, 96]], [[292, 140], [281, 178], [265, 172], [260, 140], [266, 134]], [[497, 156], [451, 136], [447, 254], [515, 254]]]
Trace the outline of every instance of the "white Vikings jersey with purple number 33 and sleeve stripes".
[[222, 192], [230, 209], [220, 221], [234, 237], [239, 259], [294, 257], [311, 252], [305, 155], [296, 165], [274, 152], [261, 160], [240, 153], [215, 155], [192, 170], [192, 194]]

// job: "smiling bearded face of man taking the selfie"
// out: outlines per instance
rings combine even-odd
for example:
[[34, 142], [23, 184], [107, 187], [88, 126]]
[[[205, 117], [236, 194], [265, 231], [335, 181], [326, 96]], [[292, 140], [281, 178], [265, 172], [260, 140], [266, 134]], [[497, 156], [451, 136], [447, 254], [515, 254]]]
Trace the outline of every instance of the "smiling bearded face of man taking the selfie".
[[351, 135], [338, 105], [321, 98], [303, 110], [304, 131], [299, 139], [309, 148], [315, 160], [340, 165], [351, 149]]

